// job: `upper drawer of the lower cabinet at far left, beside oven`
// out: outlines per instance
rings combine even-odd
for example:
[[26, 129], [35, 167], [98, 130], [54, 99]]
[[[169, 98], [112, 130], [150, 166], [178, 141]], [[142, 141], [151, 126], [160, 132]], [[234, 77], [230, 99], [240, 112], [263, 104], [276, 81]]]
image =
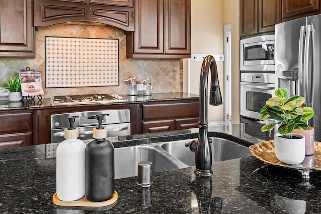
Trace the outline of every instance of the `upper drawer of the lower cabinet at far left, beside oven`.
[[0, 133], [15, 133], [32, 130], [32, 113], [0, 115]]

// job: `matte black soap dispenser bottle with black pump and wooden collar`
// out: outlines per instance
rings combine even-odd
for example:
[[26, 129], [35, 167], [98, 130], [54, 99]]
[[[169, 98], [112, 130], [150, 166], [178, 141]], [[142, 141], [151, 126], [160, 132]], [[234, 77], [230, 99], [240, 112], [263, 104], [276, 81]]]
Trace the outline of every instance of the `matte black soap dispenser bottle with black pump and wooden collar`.
[[98, 127], [93, 129], [93, 138], [85, 151], [85, 194], [87, 200], [101, 202], [113, 197], [115, 191], [115, 149], [107, 137], [107, 129], [101, 124], [109, 114], [90, 116], [97, 118]]

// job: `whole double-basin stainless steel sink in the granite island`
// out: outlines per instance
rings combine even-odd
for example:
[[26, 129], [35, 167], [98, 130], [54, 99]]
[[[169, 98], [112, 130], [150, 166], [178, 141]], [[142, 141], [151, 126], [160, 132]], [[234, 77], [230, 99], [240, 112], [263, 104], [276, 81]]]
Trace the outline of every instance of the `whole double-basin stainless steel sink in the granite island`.
[[[152, 162], [152, 172], [169, 171], [195, 165], [195, 154], [185, 143], [197, 139], [152, 143], [115, 149], [115, 179], [137, 176], [138, 163]], [[219, 162], [251, 156], [249, 149], [223, 138], [212, 137], [212, 160]]]

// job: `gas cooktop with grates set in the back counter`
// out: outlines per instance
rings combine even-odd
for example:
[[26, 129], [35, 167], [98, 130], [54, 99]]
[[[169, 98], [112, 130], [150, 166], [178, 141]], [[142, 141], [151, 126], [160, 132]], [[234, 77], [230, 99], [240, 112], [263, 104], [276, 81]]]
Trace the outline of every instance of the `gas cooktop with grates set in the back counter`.
[[54, 96], [51, 105], [72, 105], [72, 104], [87, 104], [87, 103], [108, 103], [108, 102], [122, 102], [123, 100], [119, 95], [108, 94], [83, 94], [83, 95], [67, 95], [67, 96]]

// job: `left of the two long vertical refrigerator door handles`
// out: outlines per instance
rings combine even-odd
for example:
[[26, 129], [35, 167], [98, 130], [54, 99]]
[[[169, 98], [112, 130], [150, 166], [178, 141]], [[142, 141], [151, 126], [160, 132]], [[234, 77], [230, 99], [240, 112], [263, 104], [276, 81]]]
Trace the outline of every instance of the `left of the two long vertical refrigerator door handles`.
[[[299, 39], [299, 59], [298, 59], [298, 69], [299, 69], [299, 78], [298, 81], [296, 81], [295, 84], [295, 94], [303, 96], [304, 95], [304, 89], [303, 89], [303, 46], [304, 46], [304, 30], [305, 26], [301, 26], [300, 29], [300, 39]], [[292, 94], [291, 94], [292, 95]]]

